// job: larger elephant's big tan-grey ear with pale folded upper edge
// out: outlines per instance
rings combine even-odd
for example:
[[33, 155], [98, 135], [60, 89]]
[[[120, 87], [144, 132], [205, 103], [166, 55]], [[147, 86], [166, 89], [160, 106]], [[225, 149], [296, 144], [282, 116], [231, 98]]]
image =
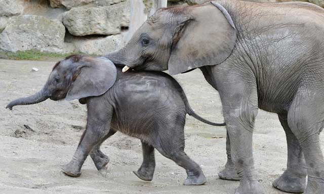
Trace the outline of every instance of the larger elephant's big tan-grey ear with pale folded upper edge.
[[236, 29], [231, 16], [220, 4], [188, 7], [190, 18], [174, 35], [169, 59], [172, 75], [222, 63], [232, 52]]

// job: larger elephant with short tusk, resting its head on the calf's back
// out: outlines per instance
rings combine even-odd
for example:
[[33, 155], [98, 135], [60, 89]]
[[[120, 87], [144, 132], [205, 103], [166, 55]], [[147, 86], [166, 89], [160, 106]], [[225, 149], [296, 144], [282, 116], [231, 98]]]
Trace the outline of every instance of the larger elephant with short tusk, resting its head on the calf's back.
[[324, 193], [324, 9], [300, 2], [214, 3], [158, 10], [107, 57], [135, 70], [203, 72], [219, 91], [227, 124], [228, 161], [219, 176], [240, 180], [235, 193], [264, 193], [252, 152], [258, 108], [277, 113], [287, 136], [287, 170], [273, 186]]

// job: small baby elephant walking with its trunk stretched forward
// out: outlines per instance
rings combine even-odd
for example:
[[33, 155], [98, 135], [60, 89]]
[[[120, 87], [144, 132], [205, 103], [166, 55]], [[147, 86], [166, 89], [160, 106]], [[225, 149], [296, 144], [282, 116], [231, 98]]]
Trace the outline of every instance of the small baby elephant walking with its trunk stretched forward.
[[179, 83], [163, 72], [126, 72], [106, 58], [80, 55], [58, 62], [43, 89], [34, 95], [17, 99], [16, 105], [40, 103], [50, 98], [57, 101], [78, 99], [87, 104], [87, 129], [83, 133], [72, 160], [63, 168], [67, 175], [77, 177], [90, 154], [98, 170], [109, 162], [100, 151], [101, 143], [116, 131], [142, 141], [143, 163], [134, 172], [140, 179], [153, 178], [154, 148], [163, 156], [186, 169], [185, 185], [201, 185], [206, 178], [198, 164], [184, 152], [186, 113], [207, 121], [190, 108]]

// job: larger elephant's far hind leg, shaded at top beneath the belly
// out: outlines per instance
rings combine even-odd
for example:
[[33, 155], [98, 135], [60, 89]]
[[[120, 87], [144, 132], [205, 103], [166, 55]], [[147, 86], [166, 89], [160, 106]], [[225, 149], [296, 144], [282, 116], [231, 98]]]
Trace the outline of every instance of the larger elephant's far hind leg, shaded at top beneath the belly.
[[306, 188], [306, 164], [299, 141], [288, 126], [287, 113], [278, 114], [279, 121], [286, 132], [288, 162], [287, 170], [272, 185], [284, 192], [303, 193]]

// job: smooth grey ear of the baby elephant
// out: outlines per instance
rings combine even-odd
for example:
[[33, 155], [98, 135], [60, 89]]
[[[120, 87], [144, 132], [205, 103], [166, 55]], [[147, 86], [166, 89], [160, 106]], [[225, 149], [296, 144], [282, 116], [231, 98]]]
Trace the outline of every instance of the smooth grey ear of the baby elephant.
[[66, 94], [71, 101], [105, 93], [116, 81], [116, 67], [106, 58], [84, 57], [79, 62], [78, 75]]

